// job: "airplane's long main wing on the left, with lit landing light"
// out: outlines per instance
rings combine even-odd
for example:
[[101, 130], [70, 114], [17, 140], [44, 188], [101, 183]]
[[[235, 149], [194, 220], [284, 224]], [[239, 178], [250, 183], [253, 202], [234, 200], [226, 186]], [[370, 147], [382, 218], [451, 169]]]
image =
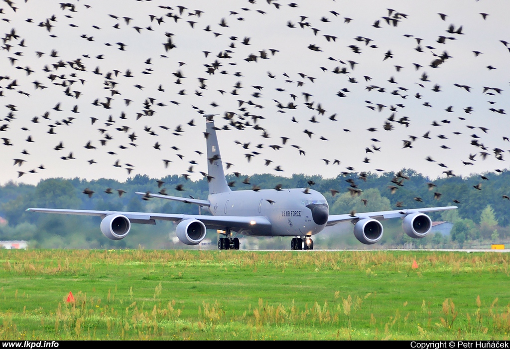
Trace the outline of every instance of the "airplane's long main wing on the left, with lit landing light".
[[146, 213], [146, 212], [120, 212], [120, 211], [94, 211], [94, 210], [68, 210], [68, 209], [44, 209], [29, 208], [29, 212], [45, 212], [59, 214], [75, 214], [85, 216], [99, 216], [104, 218], [109, 215], [123, 215], [133, 223], [156, 224], [156, 220], [181, 221], [196, 219], [201, 221], [209, 229], [225, 230], [226, 227], [233, 230], [271, 230], [271, 223], [263, 216], [209, 216], [194, 214], [173, 213]]

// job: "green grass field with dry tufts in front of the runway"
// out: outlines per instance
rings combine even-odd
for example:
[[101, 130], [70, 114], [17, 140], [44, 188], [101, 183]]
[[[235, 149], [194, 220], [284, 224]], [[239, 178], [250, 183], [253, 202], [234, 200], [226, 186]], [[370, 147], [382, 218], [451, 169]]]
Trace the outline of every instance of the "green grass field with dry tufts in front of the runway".
[[510, 337], [502, 253], [4, 250], [0, 260], [0, 339]]

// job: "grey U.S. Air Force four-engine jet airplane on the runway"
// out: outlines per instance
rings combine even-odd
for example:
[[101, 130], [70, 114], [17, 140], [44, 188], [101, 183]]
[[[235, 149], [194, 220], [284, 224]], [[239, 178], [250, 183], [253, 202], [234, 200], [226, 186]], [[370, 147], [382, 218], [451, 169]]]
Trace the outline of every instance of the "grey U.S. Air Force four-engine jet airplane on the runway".
[[175, 232], [187, 245], [199, 244], [207, 229], [216, 229], [224, 237], [218, 239], [218, 250], [239, 250], [238, 235], [292, 236], [291, 250], [313, 250], [312, 236], [325, 227], [350, 221], [354, 236], [364, 244], [382, 238], [381, 220], [403, 218], [402, 229], [412, 238], [425, 237], [432, 221], [426, 212], [456, 209], [456, 206], [396, 211], [380, 211], [329, 215], [326, 198], [310, 188], [235, 190], [228, 186], [223, 171], [214, 121], [206, 122], [209, 195], [207, 200], [137, 192], [155, 198], [199, 205], [212, 215], [118, 212], [70, 209], [29, 208], [30, 212], [99, 216], [101, 232], [109, 239], [120, 240], [130, 232], [132, 223], [155, 225], [156, 220], [177, 223]]

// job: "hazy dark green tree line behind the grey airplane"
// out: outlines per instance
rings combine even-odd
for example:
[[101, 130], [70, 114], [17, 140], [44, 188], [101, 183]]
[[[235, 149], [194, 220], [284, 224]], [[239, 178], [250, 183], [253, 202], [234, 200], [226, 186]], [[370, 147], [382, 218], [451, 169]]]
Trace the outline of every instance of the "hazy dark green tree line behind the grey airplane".
[[[397, 176], [400, 175], [401, 177]], [[482, 179], [486, 178], [486, 179]], [[411, 169], [399, 173], [341, 174], [336, 178], [304, 176], [274, 176], [255, 174], [250, 176], [250, 185], [243, 183], [245, 177], [227, 176], [233, 190], [250, 190], [252, 185], [261, 189], [307, 188], [321, 192], [327, 199], [330, 214], [345, 214], [352, 211], [396, 210], [432, 206], [458, 207], [454, 211], [431, 213], [432, 220], [448, 220], [454, 223], [450, 237], [427, 236], [425, 239], [407, 238], [397, 221], [385, 221], [385, 236], [379, 244], [386, 246], [442, 246], [462, 247], [473, 244], [489, 244], [508, 240], [510, 220], [507, 215], [510, 200], [510, 171], [472, 174], [468, 177], [430, 179]], [[409, 178], [409, 179], [407, 179]], [[161, 187], [158, 180], [163, 181]], [[480, 185], [481, 183], [481, 185]], [[177, 186], [181, 185], [178, 189]], [[396, 189], [392, 190], [392, 187]], [[110, 190], [107, 190], [110, 188]], [[136, 212], [162, 212], [198, 214], [198, 207], [186, 203], [152, 198], [143, 201], [136, 191], [157, 193], [165, 188], [168, 195], [207, 199], [206, 179], [186, 181], [180, 176], [151, 179], [138, 174], [125, 182], [111, 179], [86, 181], [79, 178], [52, 178], [37, 185], [9, 182], [0, 186], [0, 217], [7, 224], [0, 226], [0, 240], [28, 240], [32, 248], [183, 248], [174, 244], [175, 226], [171, 222], [158, 222], [157, 227], [133, 225], [130, 236], [121, 241], [111, 241], [99, 230], [100, 218], [25, 212], [29, 207], [69, 208], [84, 210], [115, 210]], [[350, 190], [349, 190], [350, 188]], [[83, 193], [93, 192], [91, 197]], [[125, 191], [121, 196], [116, 189]], [[184, 190], [182, 190], [184, 189]], [[111, 193], [110, 193], [111, 192]], [[455, 201], [455, 202], [454, 202]], [[201, 212], [207, 214], [206, 212]], [[326, 233], [317, 236], [321, 248], [364, 247], [353, 239], [352, 227], [341, 228], [345, 233]], [[350, 233], [349, 233], [350, 232]], [[208, 233], [214, 247], [216, 231]], [[320, 238], [319, 238], [320, 237]], [[253, 242], [248, 243], [253, 245]], [[274, 239], [273, 239], [274, 240]], [[280, 239], [284, 248], [286, 239]], [[254, 244], [265, 245], [265, 239], [256, 239]], [[271, 246], [277, 246], [274, 241]]]

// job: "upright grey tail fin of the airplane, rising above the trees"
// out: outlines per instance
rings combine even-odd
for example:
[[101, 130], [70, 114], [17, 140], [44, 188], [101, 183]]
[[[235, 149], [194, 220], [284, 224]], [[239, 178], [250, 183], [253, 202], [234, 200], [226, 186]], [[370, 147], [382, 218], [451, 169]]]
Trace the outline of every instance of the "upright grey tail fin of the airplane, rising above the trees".
[[218, 139], [216, 138], [216, 129], [214, 122], [207, 122], [206, 127], [207, 138], [207, 171], [212, 179], [209, 181], [209, 194], [223, 193], [231, 191], [225, 179], [223, 172], [223, 163], [221, 162], [220, 148]]

